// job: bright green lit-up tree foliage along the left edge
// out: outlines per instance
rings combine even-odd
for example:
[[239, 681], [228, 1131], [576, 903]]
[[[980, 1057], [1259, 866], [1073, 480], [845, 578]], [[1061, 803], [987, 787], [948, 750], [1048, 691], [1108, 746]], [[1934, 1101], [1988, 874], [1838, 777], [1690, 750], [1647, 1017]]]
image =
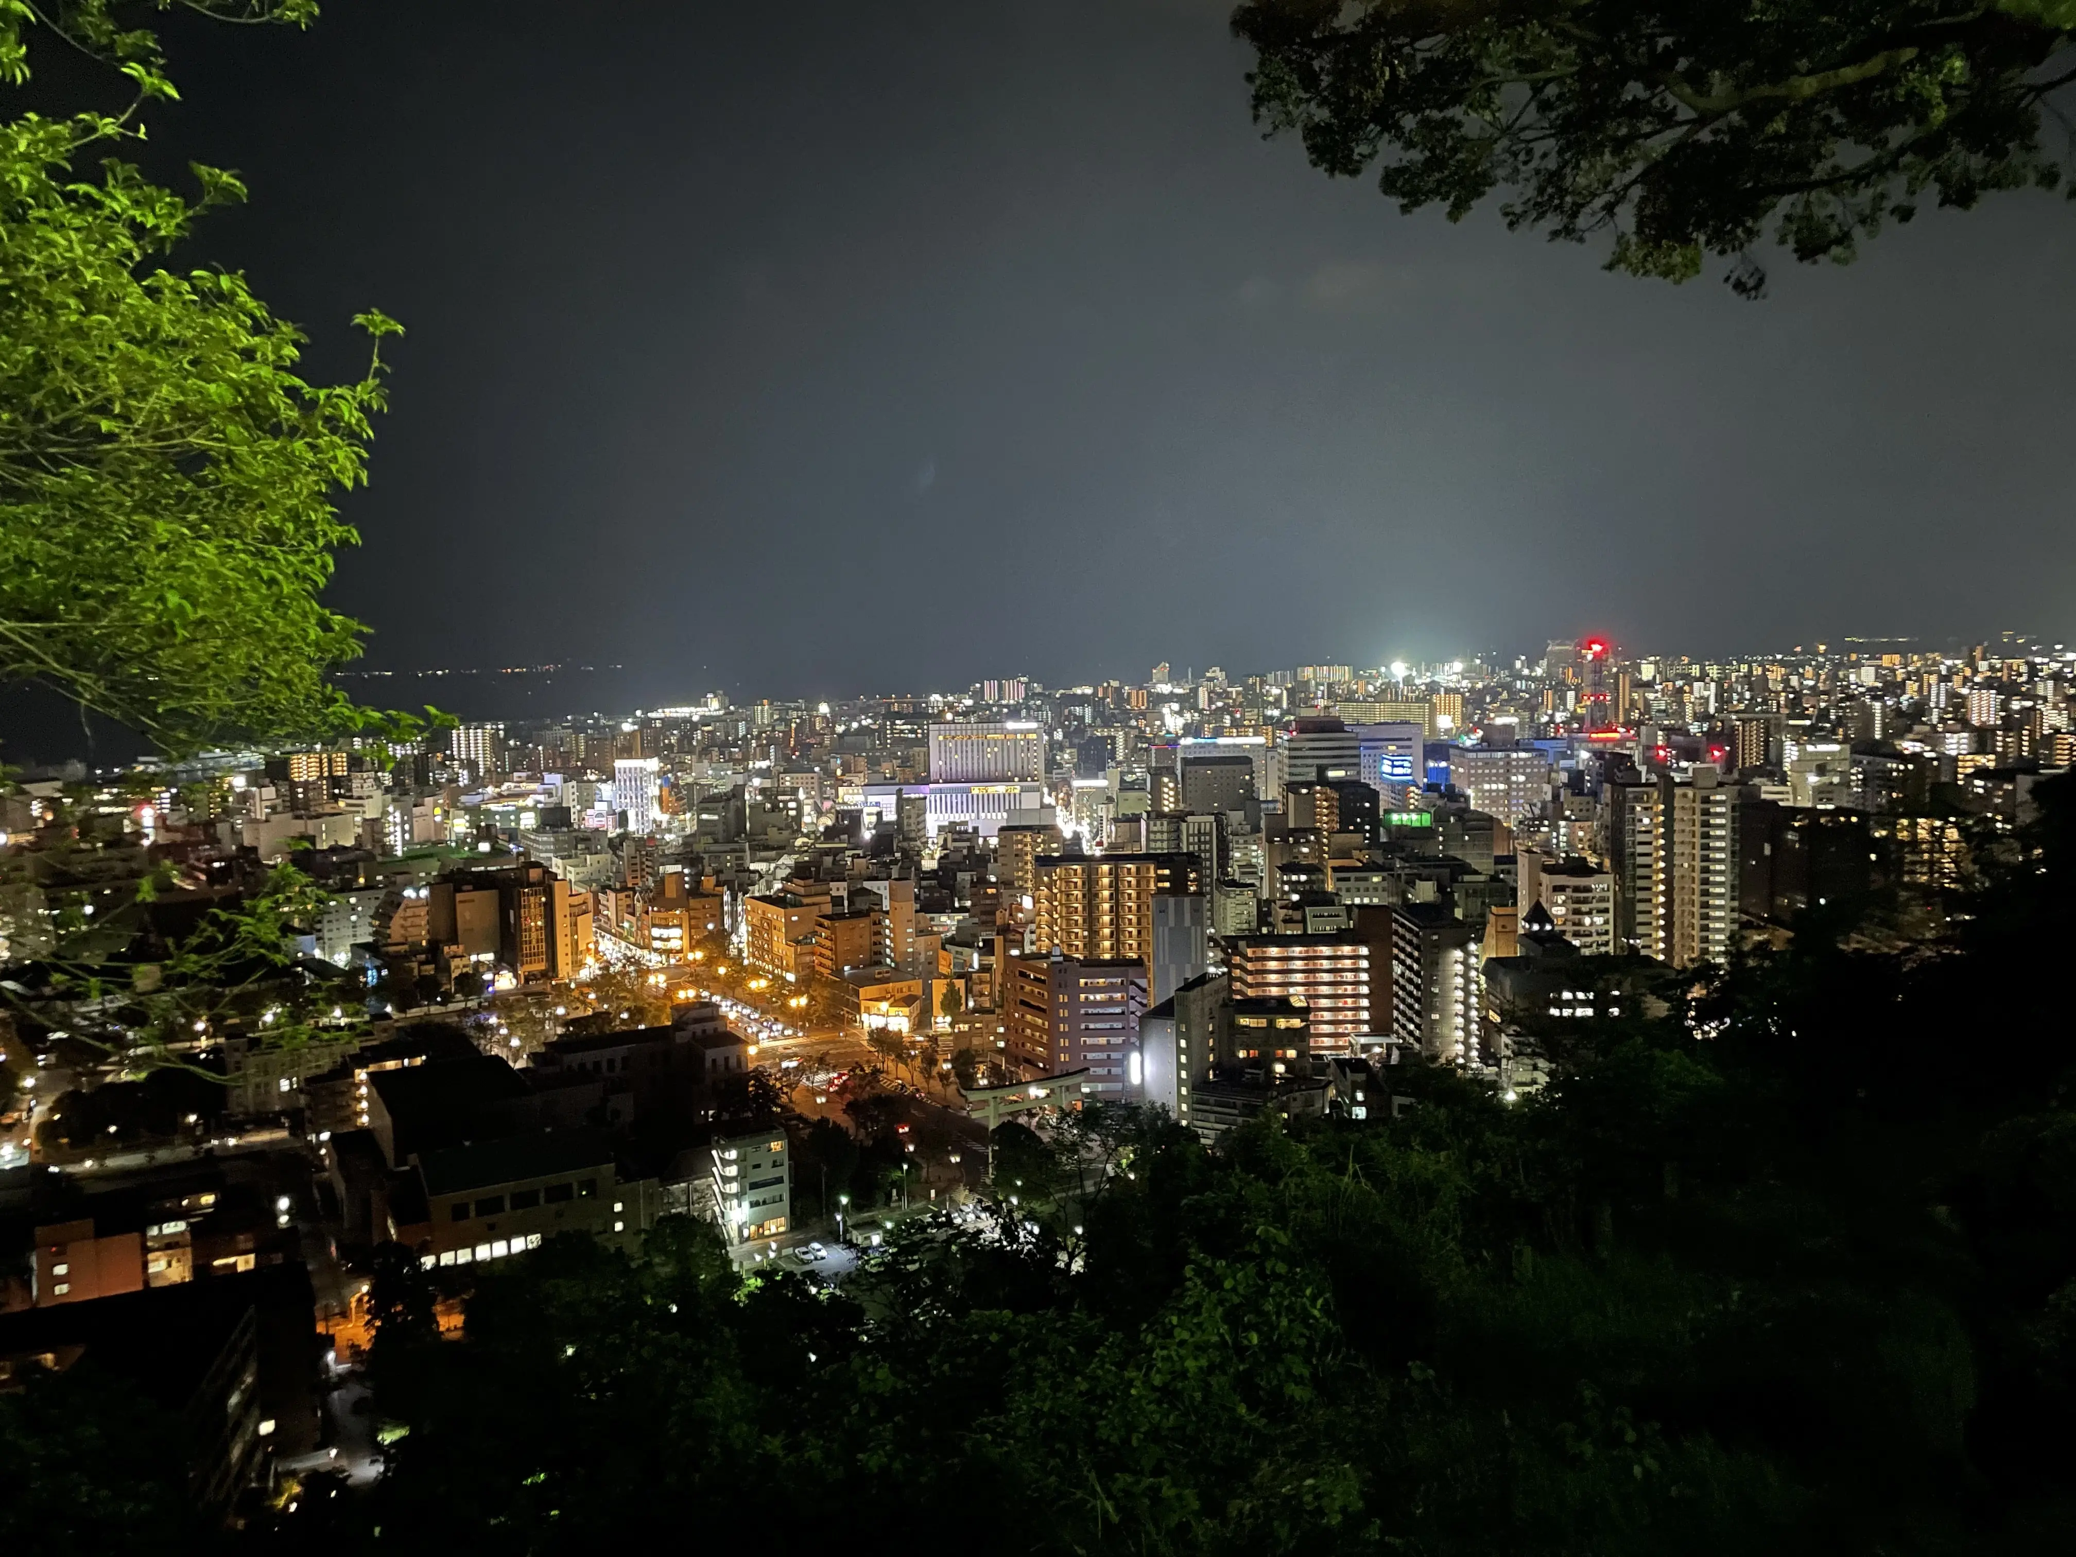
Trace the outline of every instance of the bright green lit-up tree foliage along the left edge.
[[[189, 8], [307, 23], [309, 0]], [[195, 197], [116, 160], [174, 98], [149, 31], [108, 0], [0, 0], [0, 83], [29, 75], [48, 21], [135, 85], [125, 114], [0, 125], [0, 679], [35, 681], [183, 754], [206, 743], [415, 735], [359, 710], [326, 671], [361, 623], [320, 604], [336, 494], [367, 471], [380, 340], [351, 384], [295, 374], [303, 334], [233, 272], [162, 260], [243, 185], [195, 166]], [[104, 154], [98, 176], [77, 164]]]

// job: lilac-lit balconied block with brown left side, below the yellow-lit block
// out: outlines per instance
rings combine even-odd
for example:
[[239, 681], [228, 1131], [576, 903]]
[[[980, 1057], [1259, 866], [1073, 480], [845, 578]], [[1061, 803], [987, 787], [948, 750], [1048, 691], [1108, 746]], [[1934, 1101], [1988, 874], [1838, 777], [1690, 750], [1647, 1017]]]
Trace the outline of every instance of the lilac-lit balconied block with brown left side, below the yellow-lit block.
[[1009, 1061], [1028, 1075], [1088, 1071], [1096, 1096], [1138, 1092], [1146, 965], [1136, 957], [1011, 955], [1005, 980]]

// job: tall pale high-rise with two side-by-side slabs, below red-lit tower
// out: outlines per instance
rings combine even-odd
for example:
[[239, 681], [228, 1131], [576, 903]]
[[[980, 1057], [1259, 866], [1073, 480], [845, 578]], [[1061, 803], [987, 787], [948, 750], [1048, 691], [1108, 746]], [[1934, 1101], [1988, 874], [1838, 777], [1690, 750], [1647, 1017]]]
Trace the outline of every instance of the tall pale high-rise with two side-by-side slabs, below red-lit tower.
[[[1673, 967], [1729, 961], [1738, 934], [1738, 791], [1715, 768], [1609, 787], [1615, 934]], [[1553, 916], [1555, 918], [1555, 916]]]

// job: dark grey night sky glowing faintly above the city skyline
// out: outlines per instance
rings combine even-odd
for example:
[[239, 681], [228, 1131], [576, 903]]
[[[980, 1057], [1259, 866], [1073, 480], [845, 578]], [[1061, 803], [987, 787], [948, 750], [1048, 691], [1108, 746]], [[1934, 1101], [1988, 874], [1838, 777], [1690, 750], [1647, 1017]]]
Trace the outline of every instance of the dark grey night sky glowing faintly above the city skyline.
[[2076, 637], [2076, 212], [1773, 295], [1399, 216], [1223, 0], [330, 0], [181, 29], [201, 251], [409, 326], [372, 664], [847, 693], [1846, 633]]

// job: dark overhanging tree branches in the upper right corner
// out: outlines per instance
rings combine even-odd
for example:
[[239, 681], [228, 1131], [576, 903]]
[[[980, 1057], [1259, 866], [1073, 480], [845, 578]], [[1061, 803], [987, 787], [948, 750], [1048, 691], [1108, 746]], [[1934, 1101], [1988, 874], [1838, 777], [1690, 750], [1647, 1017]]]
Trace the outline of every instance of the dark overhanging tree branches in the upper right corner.
[[1241, 0], [1256, 120], [1401, 210], [1605, 237], [1609, 270], [1756, 297], [1752, 249], [1854, 257], [1927, 197], [2053, 189], [2076, 0]]

